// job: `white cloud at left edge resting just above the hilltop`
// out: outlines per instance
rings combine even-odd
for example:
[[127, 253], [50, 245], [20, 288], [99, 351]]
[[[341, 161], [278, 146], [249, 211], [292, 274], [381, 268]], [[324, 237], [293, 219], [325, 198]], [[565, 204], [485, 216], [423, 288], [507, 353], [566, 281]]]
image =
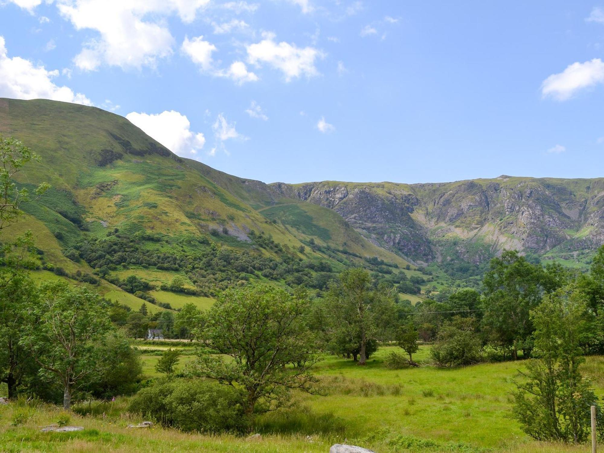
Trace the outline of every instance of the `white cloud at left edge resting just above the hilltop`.
[[51, 79], [59, 71], [47, 71], [21, 57], [8, 57], [4, 37], [0, 36], [0, 97], [18, 99], [52, 99], [92, 105], [82, 93], [74, 93], [66, 86], [57, 86]]

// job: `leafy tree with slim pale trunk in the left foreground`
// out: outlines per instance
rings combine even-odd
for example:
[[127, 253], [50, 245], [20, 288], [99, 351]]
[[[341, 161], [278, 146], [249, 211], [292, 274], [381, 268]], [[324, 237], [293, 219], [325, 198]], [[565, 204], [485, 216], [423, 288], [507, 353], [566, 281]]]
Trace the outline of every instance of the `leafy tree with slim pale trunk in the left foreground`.
[[63, 408], [69, 409], [74, 390], [94, 382], [109, 366], [100, 345], [111, 321], [98, 294], [86, 288], [47, 281], [39, 295], [39, 302], [28, 306], [32, 326], [23, 342], [43, 377], [62, 384]]

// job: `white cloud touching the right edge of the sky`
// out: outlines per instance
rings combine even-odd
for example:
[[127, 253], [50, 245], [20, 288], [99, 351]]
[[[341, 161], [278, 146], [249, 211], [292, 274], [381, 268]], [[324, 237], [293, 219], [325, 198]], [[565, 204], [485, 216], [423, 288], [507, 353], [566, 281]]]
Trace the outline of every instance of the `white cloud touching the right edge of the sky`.
[[599, 58], [585, 63], [573, 63], [559, 74], [551, 74], [541, 84], [543, 97], [567, 100], [582, 88], [604, 83], [604, 63]]

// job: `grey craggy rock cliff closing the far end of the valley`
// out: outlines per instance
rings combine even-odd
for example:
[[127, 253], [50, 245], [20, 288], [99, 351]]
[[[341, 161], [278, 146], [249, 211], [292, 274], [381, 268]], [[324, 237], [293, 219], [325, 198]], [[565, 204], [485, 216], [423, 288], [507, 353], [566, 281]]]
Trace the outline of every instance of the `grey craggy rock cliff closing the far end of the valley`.
[[422, 262], [442, 259], [451, 241], [473, 262], [504, 248], [577, 259], [604, 243], [604, 178], [502, 175], [437, 184], [324, 181], [271, 187], [330, 208], [374, 243]]

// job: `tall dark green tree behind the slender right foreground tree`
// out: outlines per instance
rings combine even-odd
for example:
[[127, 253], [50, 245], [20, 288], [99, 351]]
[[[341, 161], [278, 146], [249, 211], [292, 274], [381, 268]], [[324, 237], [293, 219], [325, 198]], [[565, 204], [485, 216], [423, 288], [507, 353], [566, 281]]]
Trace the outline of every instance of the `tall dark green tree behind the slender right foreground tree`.
[[529, 263], [517, 251], [505, 251], [490, 262], [483, 281], [483, 328], [490, 341], [509, 348], [514, 359], [519, 350], [525, 358], [530, 355], [534, 329], [529, 313], [546, 291], [556, 289], [552, 281], [541, 265]]

